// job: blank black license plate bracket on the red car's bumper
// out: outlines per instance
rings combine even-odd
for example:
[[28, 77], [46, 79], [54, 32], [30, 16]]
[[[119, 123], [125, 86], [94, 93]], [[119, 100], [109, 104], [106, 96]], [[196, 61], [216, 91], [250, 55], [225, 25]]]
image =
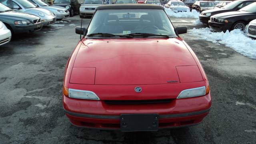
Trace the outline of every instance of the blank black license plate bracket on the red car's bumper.
[[121, 114], [120, 128], [122, 132], [157, 131], [158, 114]]

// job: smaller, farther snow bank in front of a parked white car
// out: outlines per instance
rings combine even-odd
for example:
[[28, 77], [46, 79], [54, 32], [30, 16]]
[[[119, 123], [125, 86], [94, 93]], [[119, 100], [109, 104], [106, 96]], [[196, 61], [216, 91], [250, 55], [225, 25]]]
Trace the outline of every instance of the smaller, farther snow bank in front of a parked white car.
[[200, 15], [196, 10], [192, 10], [192, 12], [173, 12], [170, 8], [165, 8], [165, 12], [168, 16], [177, 18], [198, 18]]

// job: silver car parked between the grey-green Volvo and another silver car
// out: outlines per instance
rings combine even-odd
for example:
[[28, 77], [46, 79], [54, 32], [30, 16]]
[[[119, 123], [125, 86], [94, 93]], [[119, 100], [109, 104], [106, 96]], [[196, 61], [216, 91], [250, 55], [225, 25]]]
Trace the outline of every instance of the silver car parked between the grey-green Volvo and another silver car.
[[54, 13], [44, 8], [39, 8], [28, 0], [1, 0], [1, 3], [15, 11], [26, 12], [39, 16], [44, 26], [54, 24], [56, 22], [56, 16]]

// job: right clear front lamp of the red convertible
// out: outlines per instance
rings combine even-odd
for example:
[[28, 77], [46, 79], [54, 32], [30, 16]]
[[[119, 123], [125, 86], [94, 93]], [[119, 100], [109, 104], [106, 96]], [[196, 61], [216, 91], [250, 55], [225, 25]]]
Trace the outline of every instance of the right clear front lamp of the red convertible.
[[190, 98], [195, 96], [204, 96], [206, 95], [205, 86], [199, 88], [191, 88], [187, 90], [182, 90], [177, 98]]

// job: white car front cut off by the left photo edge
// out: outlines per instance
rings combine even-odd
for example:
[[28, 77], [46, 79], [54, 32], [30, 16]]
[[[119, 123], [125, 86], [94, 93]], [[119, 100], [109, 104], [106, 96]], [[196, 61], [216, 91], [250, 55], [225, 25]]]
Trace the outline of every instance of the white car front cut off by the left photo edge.
[[0, 21], [0, 46], [10, 42], [11, 38], [11, 31]]

